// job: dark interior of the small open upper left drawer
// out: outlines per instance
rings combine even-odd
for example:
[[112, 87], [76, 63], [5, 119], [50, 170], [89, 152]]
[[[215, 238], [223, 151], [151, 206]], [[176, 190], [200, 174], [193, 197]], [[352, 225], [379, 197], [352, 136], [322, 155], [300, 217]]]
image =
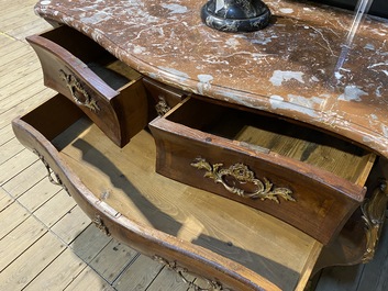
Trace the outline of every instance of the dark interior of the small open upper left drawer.
[[43, 33], [41, 36], [56, 43], [76, 56], [113, 90], [122, 90], [123, 87], [142, 77], [93, 40], [67, 25]]

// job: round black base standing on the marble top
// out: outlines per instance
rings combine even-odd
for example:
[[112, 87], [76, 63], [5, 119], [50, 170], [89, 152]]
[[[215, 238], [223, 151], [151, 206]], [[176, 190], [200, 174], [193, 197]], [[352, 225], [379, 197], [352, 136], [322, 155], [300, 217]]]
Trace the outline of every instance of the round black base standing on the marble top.
[[209, 0], [201, 19], [219, 31], [253, 32], [268, 25], [270, 11], [260, 0]]

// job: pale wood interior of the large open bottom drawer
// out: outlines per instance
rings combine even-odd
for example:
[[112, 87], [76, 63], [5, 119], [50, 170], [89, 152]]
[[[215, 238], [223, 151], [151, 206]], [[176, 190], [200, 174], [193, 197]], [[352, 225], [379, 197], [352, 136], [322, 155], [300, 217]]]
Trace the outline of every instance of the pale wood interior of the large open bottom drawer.
[[148, 132], [119, 148], [60, 94], [22, 120], [55, 146], [98, 199], [131, 221], [242, 264], [282, 290], [293, 290], [306, 266], [312, 268], [315, 239], [260, 211], [155, 174]]

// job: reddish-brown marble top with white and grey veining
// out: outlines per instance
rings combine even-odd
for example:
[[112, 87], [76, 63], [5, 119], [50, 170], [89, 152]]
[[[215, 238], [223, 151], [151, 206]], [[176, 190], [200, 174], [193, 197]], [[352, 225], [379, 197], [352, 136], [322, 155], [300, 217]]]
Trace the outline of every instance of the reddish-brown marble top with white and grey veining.
[[319, 126], [388, 157], [388, 20], [266, 0], [269, 26], [206, 26], [206, 0], [42, 0], [37, 14], [89, 35], [156, 80]]

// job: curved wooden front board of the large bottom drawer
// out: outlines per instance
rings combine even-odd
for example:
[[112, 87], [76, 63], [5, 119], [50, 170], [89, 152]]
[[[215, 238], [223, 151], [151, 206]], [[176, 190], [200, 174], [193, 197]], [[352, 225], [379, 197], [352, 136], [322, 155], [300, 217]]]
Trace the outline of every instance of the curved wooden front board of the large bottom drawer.
[[62, 159], [57, 148], [37, 128], [20, 117], [12, 121], [12, 127], [18, 139], [26, 148], [40, 153], [41, 157], [45, 157], [43, 160], [48, 158], [55, 160], [51, 165], [53, 171], [60, 174], [62, 182], [66, 184], [73, 199], [91, 220], [96, 219], [98, 226], [104, 225], [102, 231], [104, 232], [107, 227], [111, 237], [149, 257], [156, 251], [166, 254], [166, 257], [181, 257], [186, 265], [193, 266], [193, 270], [210, 273], [214, 278], [220, 277], [223, 284], [233, 287], [235, 290], [243, 290], [242, 287], [256, 291], [280, 290], [259, 273], [236, 264], [228, 257], [189, 242], [182, 242], [153, 227], [138, 224], [112, 209], [107, 209], [108, 204], [82, 183], [73, 169]]

